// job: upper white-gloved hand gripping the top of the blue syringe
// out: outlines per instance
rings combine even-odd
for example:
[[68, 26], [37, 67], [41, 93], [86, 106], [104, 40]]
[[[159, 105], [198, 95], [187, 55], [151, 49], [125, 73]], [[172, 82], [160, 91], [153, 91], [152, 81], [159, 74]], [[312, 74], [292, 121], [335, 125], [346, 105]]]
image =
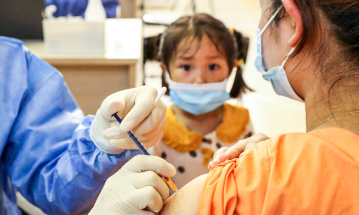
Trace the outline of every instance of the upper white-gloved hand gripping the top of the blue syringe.
[[[94, 144], [108, 154], [124, 149], [137, 149], [126, 132], [132, 131], [145, 147], [158, 143], [166, 122], [166, 105], [156, 99], [156, 89], [149, 86], [119, 91], [108, 96], [91, 123], [90, 137]], [[112, 114], [122, 119], [121, 125]]]

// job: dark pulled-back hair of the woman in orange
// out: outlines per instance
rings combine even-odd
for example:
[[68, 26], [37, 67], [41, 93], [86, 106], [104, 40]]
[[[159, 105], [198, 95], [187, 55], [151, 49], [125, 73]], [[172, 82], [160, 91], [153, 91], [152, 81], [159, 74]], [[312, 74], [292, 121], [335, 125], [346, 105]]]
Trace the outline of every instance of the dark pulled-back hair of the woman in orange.
[[[294, 0], [294, 3], [302, 16], [303, 37], [291, 57], [302, 50], [313, 52], [322, 81], [331, 82], [329, 98], [335, 84], [359, 76], [359, 1]], [[281, 0], [271, 0], [271, 14], [281, 5]], [[276, 26], [287, 15], [283, 8], [274, 19]], [[356, 81], [359, 83], [359, 79]]]

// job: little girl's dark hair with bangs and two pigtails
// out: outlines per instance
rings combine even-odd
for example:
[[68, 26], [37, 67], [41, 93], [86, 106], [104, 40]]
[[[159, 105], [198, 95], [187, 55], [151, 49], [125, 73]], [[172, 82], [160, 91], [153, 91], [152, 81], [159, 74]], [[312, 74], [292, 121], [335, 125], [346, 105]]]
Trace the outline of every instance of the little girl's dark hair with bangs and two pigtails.
[[[153, 51], [152, 57], [163, 62], [166, 69], [169, 70], [169, 63], [173, 55], [176, 54], [179, 42], [184, 38], [190, 38], [189, 42], [193, 42], [195, 39], [201, 41], [203, 35], [206, 35], [213, 42], [218, 52], [226, 56], [230, 69], [236, 61], [241, 59], [244, 62], [246, 61], [249, 39], [243, 37], [240, 32], [232, 30], [231, 33], [220, 20], [204, 13], [182, 16], [177, 19], [168, 26], [163, 34], [147, 41], [149, 46], [153, 46], [148, 50]], [[147, 53], [147, 59], [150, 59], [149, 55], [151, 54]], [[164, 77], [162, 78], [162, 84], [168, 87]], [[252, 91], [244, 82], [242, 67], [238, 65], [230, 95], [233, 98], [238, 97], [246, 89]]]

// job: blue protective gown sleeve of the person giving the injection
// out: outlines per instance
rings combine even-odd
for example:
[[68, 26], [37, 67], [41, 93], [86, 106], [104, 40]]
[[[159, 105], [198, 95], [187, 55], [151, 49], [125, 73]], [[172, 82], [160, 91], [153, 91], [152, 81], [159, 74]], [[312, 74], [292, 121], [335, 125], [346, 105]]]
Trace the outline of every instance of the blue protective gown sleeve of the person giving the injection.
[[16, 39], [0, 37], [0, 214], [20, 214], [15, 188], [48, 214], [85, 213], [138, 150], [108, 155], [89, 137], [63, 76]]

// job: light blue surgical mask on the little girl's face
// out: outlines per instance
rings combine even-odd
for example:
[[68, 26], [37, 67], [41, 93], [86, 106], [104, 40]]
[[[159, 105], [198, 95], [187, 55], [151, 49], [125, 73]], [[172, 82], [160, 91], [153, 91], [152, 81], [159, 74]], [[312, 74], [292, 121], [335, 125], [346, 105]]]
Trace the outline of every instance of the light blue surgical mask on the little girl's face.
[[180, 83], [171, 80], [168, 72], [166, 78], [171, 101], [180, 109], [194, 115], [211, 112], [230, 98], [226, 91], [228, 79], [215, 83]]

